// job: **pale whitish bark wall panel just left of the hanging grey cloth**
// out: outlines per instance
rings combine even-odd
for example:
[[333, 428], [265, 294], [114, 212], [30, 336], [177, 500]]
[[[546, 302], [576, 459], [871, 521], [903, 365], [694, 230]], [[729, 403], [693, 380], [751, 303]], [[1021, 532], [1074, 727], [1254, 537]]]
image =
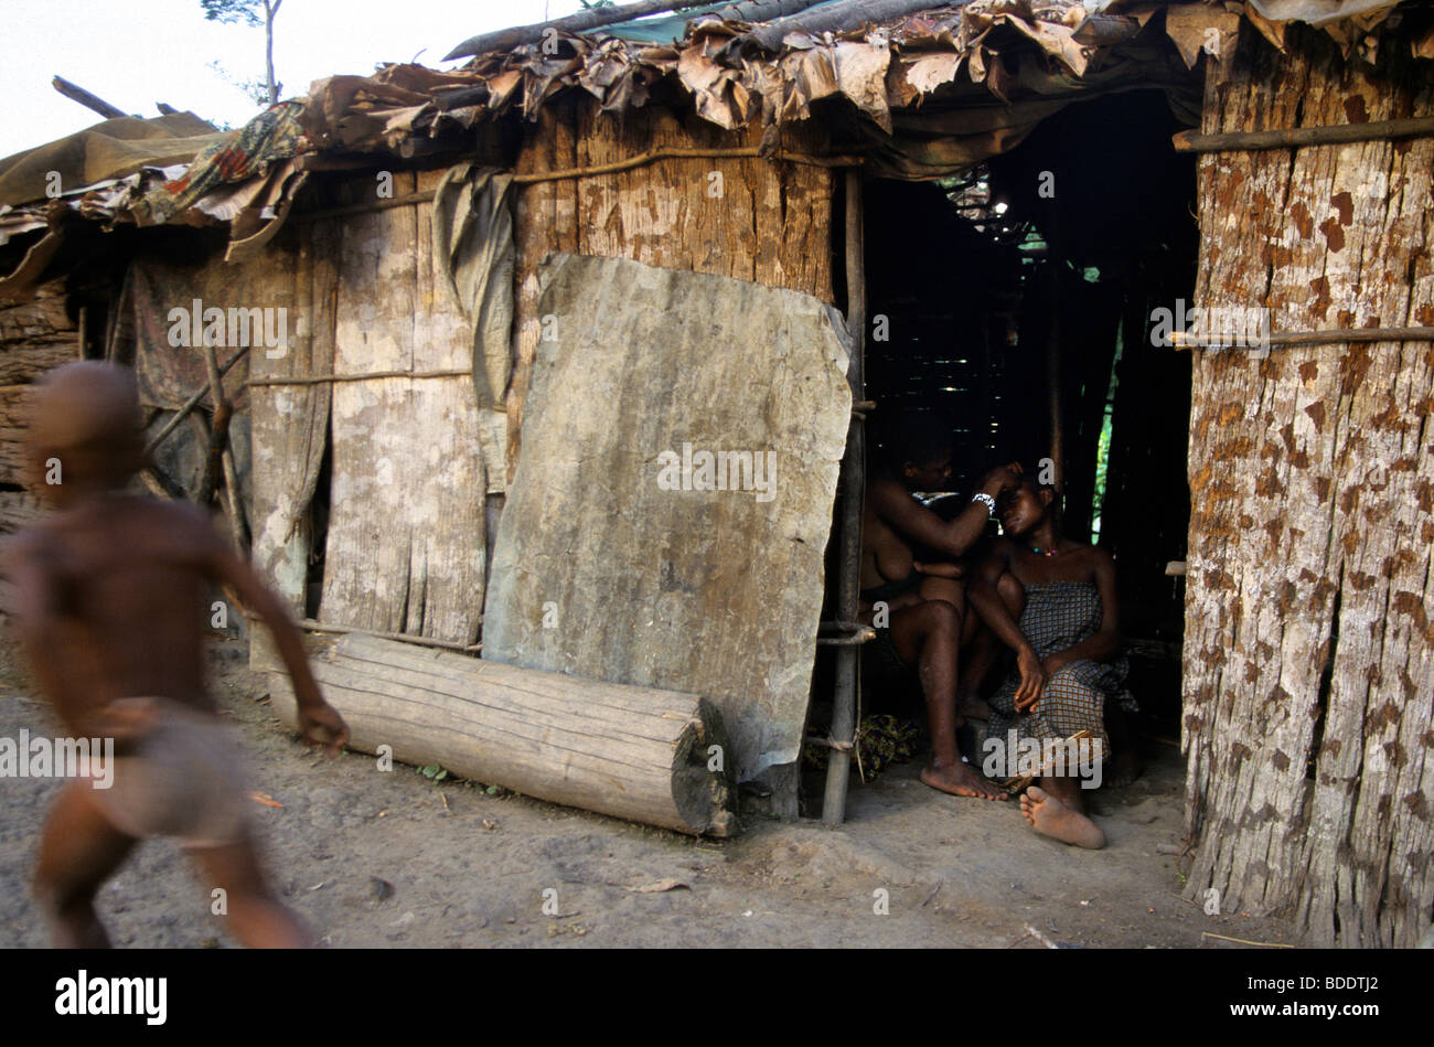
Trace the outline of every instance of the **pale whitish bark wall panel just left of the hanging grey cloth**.
[[[393, 195], [440, 171], [394, 172]], [[373, 179], [360, 179], [373, 192]], [[338, 241], [334, 373], [470, 370], [472, 328], [433, 257], [430, 207], [350, 215]], [[463, 374], [333, 389], [320, 620], [470, 644], [483, 607], [488, 482]]]

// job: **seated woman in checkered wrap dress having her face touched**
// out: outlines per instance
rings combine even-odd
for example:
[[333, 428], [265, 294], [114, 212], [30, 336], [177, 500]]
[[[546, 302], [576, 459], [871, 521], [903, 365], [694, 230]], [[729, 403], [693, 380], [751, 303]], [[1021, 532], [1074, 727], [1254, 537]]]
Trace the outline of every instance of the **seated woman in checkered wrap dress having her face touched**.
[[[1116, 567], [1104, 549], [1060, 535], [1054, 502], [1054, 489], [1022, 476], [1001, 499], [1005, 536], [971, 585], [972, 605], [1017, 654], [1015, 674], [989, 698], [985, 736], [1004, 744], [1014, 730], [1050, 756], [1053, 746], [1088, 731], [1087, 753], [1106, 760], [1107, 709], [1114, 703], [1134, 710], [1124, 660], [1116, 657]], [[1040, 783], [1021, 797], [1021, 813], [1037, 832], [1101, 848], [1106, 833], [1086, 816], [1074, 770], [1044, 762]]]

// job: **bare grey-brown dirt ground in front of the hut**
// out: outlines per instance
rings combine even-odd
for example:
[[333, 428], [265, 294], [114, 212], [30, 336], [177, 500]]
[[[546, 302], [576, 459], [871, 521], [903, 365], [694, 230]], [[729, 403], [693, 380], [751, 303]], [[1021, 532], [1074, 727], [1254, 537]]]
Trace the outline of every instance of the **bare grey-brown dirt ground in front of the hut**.
[[[954, 799], [899, 766], [853, 783], [840, 829], [746, 819], [731, 840], [485, 789], [370, 756], [320, 756], [278, 723], [238, 644], [214, 651], [238, 724], [252, 820], [288, 905], [331, 947], [1235, 948], [1286, 941], [1273, 921], [1179, 898], [1183, 766], [1174, 749], [1094, 813], [1107, 849], [1031, 832], [1014, 803]], [[56, 733], [0, 650], [0, 737]], [[0, 779], [0, 945], [40, 947], [29, 875], [56, 780]], [[882, 909], [885, 891], [888, 912]], [[118, 945], [228, 947], [209, 889], [169, 840], [139, 846], [103, 891]]]

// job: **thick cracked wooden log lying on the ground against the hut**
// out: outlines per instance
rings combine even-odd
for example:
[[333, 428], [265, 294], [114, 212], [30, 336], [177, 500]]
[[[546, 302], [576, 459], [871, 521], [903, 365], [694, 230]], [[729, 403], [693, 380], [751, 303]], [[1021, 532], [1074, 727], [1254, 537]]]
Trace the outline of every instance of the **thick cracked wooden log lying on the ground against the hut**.
[[[255, 641], [267, 634], [255, 633]], [[721, 714], [703, 697], [543, 673], [348, 634], [308, 637], [314, 677], [348, 724], [350, 749], [391, 746], [525, 796], [690, 835], [736, 830]], [[257, 664], [261, 664], [257, 660]], [[288, 676], [270, 670], [274, 709], [295, 726]], [[723, 762], [730, 767], [730, 762]]]

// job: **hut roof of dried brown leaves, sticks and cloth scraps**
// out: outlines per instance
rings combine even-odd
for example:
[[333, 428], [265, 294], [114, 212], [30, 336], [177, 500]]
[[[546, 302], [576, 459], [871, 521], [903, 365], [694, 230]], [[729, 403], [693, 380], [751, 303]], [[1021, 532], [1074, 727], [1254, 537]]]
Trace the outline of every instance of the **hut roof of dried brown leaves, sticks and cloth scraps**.
[[[611, 19], [611, 11], [661, 6], [647, 0], [599, 11]], [[559, 19], [460, 44], [455, 53], [502, 44], [460, 69], [390, 65], [371, 76], [318, 80], [305, 99], [278, 103], [227, 139], [219, 152], [231, 161], [212, 189], [212, 179], [196, 176], [206, 159], [198, 156], [182, 191], [174, 182], [156, 189], [141, 172], [102, 195], [67, 182], [65, 199], [102, 221], [206, 222], [244, 214], [242, 232], [252, 235], [297, 191], [305, 158], [470, 153], [479, 125], [535, 120], [565, 93], [592, 98], [617, 116], [657, 96], [685, 99], [720, 128], [757, 122], [764, 148], [777, 146], [783, 125], [817, 108], [837, 131], [836, 148], [865, 153], [873, 171], [934, 178], [1010, 148], [1055, 109], [1094, 93], [1162, 89], [1177, 116], [1196, 122], [1200, 80], [1192, 70], [1202, 50], [1233, 49], [1242, 19], [1275, 47], [1285, 46], [1289, 24], [1304, 22], [1347, 53], [1374, 60], [1374, 30], [1398, 6], [1401, 0], [1114, 0], [1096, 11], [1073, 0], [740, 0], [688, 3], [675, 14], [585, 32], [564, 32], [571, 23]], [[1408, 46], [1418, 57], [1434, 57], [1434, 30], [1410, 37]], [[295, 126], [254, 132], [277, 119]], [[244, 164], [235, 178], [237, 152]], [[10, 194], [0, 198], [0, 214], [9, 211], [16, 232], [33, 228], [43, 205]]]

